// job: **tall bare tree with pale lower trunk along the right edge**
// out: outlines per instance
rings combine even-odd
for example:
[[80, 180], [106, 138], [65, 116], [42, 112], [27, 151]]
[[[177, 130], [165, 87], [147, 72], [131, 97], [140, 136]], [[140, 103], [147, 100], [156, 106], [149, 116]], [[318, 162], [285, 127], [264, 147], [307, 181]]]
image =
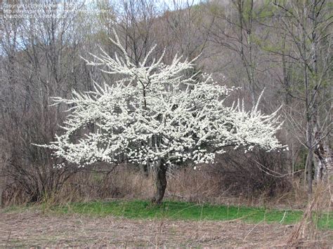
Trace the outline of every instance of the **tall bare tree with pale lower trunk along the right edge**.
[[[294, 69], [294, 100], [303, 102], [299, 115], [294, 110], [289, 120], [299, 132], [299, 141], [308, 149], [308, 193], [312, 192], [313, 155], [318, 160], [318, 180], [327, 171], [332, 175], [332, 151], [329, 136], [332, 132], [332, 21], [325, 0], [274, 1], [278, 28], [282, 30], [287, 50], [271, 51], [288, 58]], [[302, 85], [297, 85], [297, 81]], [[296, 116], [301, 119], [297, 120]], [[301, 122], [303, 120], [303, 122]]]

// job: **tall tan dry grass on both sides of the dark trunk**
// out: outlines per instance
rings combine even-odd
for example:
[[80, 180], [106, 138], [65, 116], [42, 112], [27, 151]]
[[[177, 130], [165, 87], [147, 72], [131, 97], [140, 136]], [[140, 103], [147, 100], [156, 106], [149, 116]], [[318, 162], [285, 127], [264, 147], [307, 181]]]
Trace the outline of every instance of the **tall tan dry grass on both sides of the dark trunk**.
[[[155, 190], [154, 176], [145, 176], [137, 168], [122, 166], [110, 173], [80, 172], [68, 180], [61, 191], [44, 198], [44, 203], [68, 203], [72, 201], [91, 201], [108, 198], [147, 199]], [[15, 193], [12, 194], [15, 196]], [[18, 204], [22, 191], [18, 189], [17, 198], [6, 201], [6, 205]], [[270, 196], [268, 191], [243, 192], [235, 194], [233, 186], [226, 184], [223, 177], [214, 173], [211, 166], [200, 170], [183, 168], [169, 170], [166, 198], [175, 201], [195, 203], [215, 203], [230, 206], [266, 206], [269, 208], [303, 209], [307, 196], [299, 180], [292, 181], [289, 191], [276, 192]], [[20, 200], [18, 200], [20, 199]]]

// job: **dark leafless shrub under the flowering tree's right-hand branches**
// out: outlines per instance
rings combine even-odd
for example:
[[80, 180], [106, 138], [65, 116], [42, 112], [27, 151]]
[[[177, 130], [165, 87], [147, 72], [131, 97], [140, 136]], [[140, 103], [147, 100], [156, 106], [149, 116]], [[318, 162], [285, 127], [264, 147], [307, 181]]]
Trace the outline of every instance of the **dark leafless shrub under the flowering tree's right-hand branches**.
[[261, 151], [221, 156], [212, 169], [220, 177], [221, 189], [250, 197], [265, 192], [268, 197], [291, 190], [284, 154]]

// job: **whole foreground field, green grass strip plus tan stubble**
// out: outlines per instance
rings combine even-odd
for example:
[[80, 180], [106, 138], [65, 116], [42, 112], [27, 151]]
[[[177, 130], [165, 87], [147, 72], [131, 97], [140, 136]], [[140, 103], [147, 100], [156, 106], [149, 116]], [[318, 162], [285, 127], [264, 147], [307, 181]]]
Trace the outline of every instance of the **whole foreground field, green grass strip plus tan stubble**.
[[[92, 201], [0, 210], [0, 248], [30, 247], [285, 247], [301, 210], [164, 201]], [[318, 215], [313, 214], [313, 217]], [[333, 214], [322, 215], [315, 239], [327, 248]]]

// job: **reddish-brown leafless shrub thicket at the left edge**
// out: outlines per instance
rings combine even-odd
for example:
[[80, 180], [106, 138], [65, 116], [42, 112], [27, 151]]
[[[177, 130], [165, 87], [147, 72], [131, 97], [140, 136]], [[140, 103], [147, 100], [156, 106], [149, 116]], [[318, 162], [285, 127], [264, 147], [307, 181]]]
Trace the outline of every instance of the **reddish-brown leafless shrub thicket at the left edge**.
[[3, 123], [6, 144], [1, 144], [1, 147], [6, 149], [7, 156], [3, 168], [6, 177], [4, 201], [7, 203], [36, 202], [50, 198], [61, 189], [70, 175], [77, 172], [77, 168], [73, 167], [54, 167], [61, 161], [52, 159], [47, 149], [33, 144], [51, 140], [52, 132], [57, 128], [52, 116], [52, 112], [43, 118], [37, 113], [27, 113], [15, 126], [9, 122]]

